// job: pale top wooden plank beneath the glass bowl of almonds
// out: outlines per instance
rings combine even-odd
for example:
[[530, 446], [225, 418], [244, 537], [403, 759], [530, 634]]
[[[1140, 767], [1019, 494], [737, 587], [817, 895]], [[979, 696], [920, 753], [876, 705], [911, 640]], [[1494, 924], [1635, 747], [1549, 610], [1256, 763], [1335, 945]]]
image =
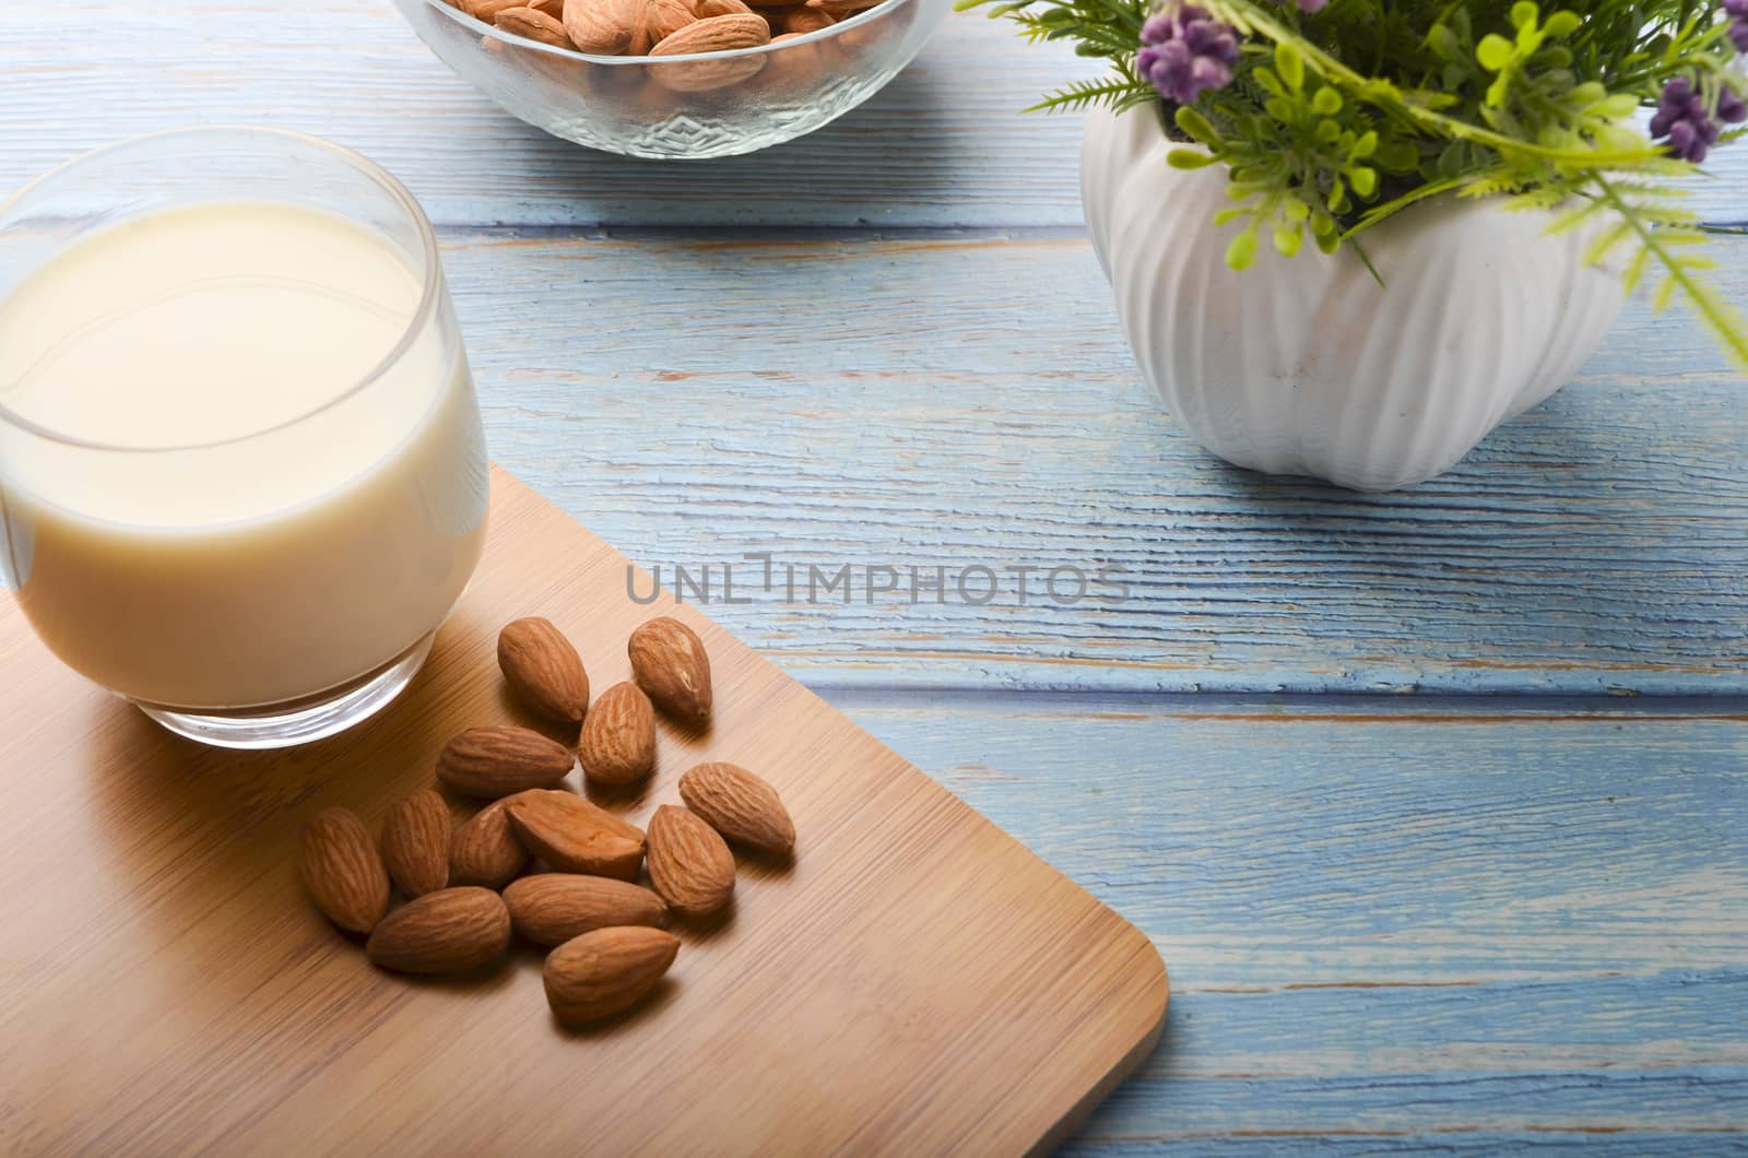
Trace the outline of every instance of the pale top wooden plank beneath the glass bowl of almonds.
[[[243, 121], [364, 149], [449, 224], [1080, 224], [1079, 117], [1019, 110], [1099, 65], [975, 12], [949, 16], [914, 68], [837, 124], [697, 168], [589, 152], [510, 119], [386, 0], [10, 7], [0, 191], [119, 136]], [[1743, 220], [1748, 147], [1718, 150], [1715, 171], [1696, 208]]]

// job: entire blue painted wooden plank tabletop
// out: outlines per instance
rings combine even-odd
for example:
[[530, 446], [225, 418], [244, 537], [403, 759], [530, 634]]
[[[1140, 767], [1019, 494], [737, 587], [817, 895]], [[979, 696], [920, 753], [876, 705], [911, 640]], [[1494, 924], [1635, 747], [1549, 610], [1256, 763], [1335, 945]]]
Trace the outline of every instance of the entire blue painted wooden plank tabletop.
[[1748, 385], [1634, 304], [1421, 488], [1222, 467], [1129, 362], [1077, 121], [1017, 112], [1087, 70], [954, 17], [816, 136], [662, 166], [496, 112], [385, 0], [9, 3], [0, 189], [187, 121], [402, 175], [495, 455], [669, 577], [736, 565], [713, 614], [1159, 943], [1164, 1044], [1072, 1151], [1748, 1148]]

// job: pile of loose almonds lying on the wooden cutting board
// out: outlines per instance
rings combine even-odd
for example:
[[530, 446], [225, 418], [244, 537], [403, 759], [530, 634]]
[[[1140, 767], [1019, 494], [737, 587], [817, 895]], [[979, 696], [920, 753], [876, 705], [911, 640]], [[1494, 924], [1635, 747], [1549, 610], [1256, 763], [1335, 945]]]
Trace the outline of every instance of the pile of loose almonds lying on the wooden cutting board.
[[[682, 775], [682, 805], [661, 805], [647, 833], [565, 787], [577, 763], [596, 785], [647, 780], [657, 708], [682, 728], [710, 722], [710, 658], [690, 628], [650, 619], [626, 651], [633, 679], [591, 705], [582, 659], [552, 623], [505, 626], [505, 682], [531, 712], [580, 726], [575, 750], [528, 728], [472, 728], [437, 757], [442, 787], [489, 801], [460, 826], [430, 789], [395, 803], [379, 840], [346, 808], [318, 813], [299, 859], [316, 908], [367, 934], [371, 960], [397, 973], [482, 969], [514, 931], [551, 950], [547, 1002], [568, 1025], [647, 997], [680, 950], [669, 918], [710, 918], [734, 897], [729, 843], [783, 857], [795, 826], [776, 789], [738, 764]], [[399, 908], [393, 894], [404, 897]]]

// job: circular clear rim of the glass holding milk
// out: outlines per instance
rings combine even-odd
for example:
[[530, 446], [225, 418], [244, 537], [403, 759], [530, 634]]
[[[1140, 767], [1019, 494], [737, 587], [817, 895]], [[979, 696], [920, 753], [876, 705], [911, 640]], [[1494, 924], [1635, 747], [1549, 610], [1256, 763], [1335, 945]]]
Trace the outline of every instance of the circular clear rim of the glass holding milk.
[[[343, 164], [348, 164], [353, 170], [364, 173], [378, 185], [381, 185], [390, 194], [390, 198], [393, 198], [393, 201], [400, 206], [406, 217], [413, 222], [413, 227], [418, 231], [421, 255], [425, 259], [425, 278], [423, 278], [425, 283], [420, 289], [420, 304], [413, 311], [413, 317], [407, 318], [407, 324], [400, 331], [400, 338], [395, 341], [395, 345], [390, 346], [388, 353], [383, 355], [383, 359], [378, 360], [362, 378], [358, 378], [358, 381], [351, 383], [350, 387], [346, 387], [329, 401], [322, 402], [320, 406], [315, 406], [301, 415], [295, 415], [294, 418], [287, 418], [285, 422], [278, 422], [271, 427], [262, 427], [260, 430], [250, 430], [248, 434], [236, 434], [231, 437], [213, 439], [208, 443], [185, 443], [178, 446], [122, 446], [115, 443], [98, 443], [93, 439], [82, 439], [66, 434], [63, 430], [54, 430], [51, 427], [45, 427], [35, 422], [33, 418], [19, 415], [3, 401], [0, 401], [0, 422], [26, 430], [28, 434], [35, 434], [37, 437], [47, 439], [51, 443], [59, 443], [63, 446], [75, 446], [79, 450], [108, 451], [119, 455], [164, 455], [164, 453], [185, 453], [196, 450], [215, 450], [220, 446], [252, 443], [255, 439], [262, 439], [278, 434], [280, 430], [288, 430], [304, 422], [309, 422], [311, 418], [316, 418], [318, 415], [334, 409], [336, 406], [357, 397], [358, 394], [372, 387], [376, 381], [383, 378], [383, 374], [393, 369], [407, 355], [418, 336], [425, 332], [425, 329], [430, 325], [432, 315], [437, 311], [437, 299], [440, 297], [439, 290], [442, 287], [442, 266], [439, 264], [439, 254], [437, 254], [437, 231], [432, 227], [430, 217], [425, 215], [423, 206], [420, 206], [413, 192], [404, 184], [400, 184], [400, 180], [393, 173], [390, 173], [388, 170], [385, 170], [381, 164], [369, 159], [362, 152], [348, 149], [346, 145], [336, 145], [334, 142], [323, 140], [322, 136], [299, 133], [297, 129], [281, 129], [262, 124], [187, 124], [180, 128], [157, 129], [154, 133], [138, 133], [135, 136], [126, 136], [122, 140], [110, 142], [108, 145], [98, 145], [96, 149], [89, 149], [73, 157], [68, 157], [66, 161], [61, 161], [45, 173], [40, 173], [38, 177], [28, 180], [12, 196], [0, 201], [0, 234], [5, 233], [5, 217], [17, 205], [21, 205], [24, 198], [28, 198], [38, 187], [49, 184], [51, 180], [65, 175], [66, 171], [80, 164], [154, 140], [170, 140], [177, 136], [192, 138], [192, 136], [225, 136], [225, 135], [276, 136], [280, 140], [299, 142], [302, 145], [315, 145], [322, 152], [332, 156], [336, 161], [341, 161]], [[61, 250], [58, 250], [56, 255]], [[54, 259], [51, 257], [49, 261]], [[0, 297], [0, 301], [3, 301], [3, 297]]]

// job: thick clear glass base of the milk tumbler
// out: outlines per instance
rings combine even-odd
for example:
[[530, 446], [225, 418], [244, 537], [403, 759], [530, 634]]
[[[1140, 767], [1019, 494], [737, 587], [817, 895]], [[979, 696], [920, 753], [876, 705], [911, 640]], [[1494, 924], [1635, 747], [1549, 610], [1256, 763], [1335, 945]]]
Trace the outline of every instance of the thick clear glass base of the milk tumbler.
[[220, 749], [288, 749], [346, 731], [381, 712], [425, 666], [435, 638], [437, 633], [432, 631], [371, 675], [292, 703], [234, 712], [191, 712], [138, 700], [133, 705], [178, 736], [199, 743]]

